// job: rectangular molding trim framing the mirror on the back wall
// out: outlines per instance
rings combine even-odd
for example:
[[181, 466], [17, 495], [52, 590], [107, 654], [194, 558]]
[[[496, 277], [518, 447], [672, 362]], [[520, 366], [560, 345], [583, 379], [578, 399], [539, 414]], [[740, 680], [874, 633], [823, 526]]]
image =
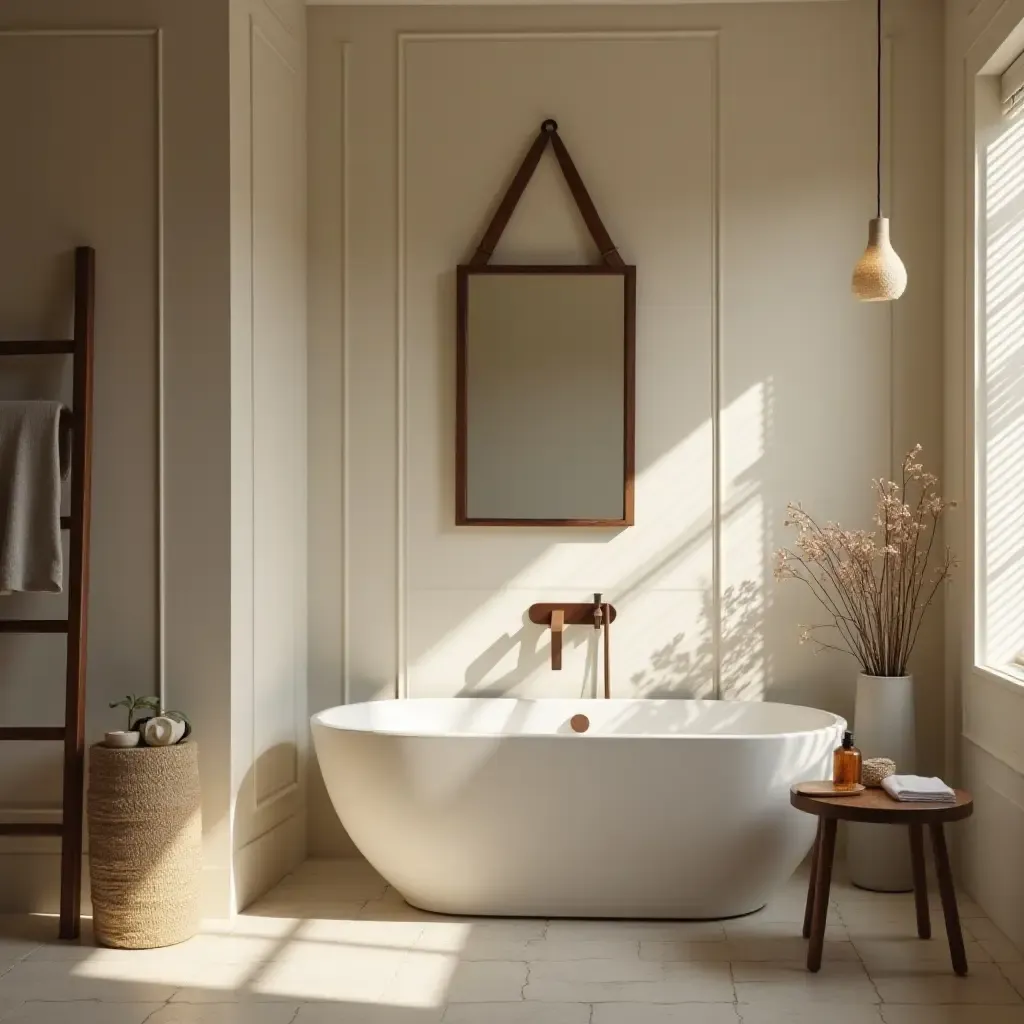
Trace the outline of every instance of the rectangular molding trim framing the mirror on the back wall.
[[[460, 0], [462, 2], [462, 0]], [[467, 0], [476, 2], [476, 0]], [[489, 0], [485, 0], [489, 2]], [[497, 0], [505, 2], [505, 0]], [[542, 0], [543, 2], [543, 0]], [[579, 2], [589, 2], [589, 0], [579, 0]], [[598, 0], [604, 2], [604, 0]], [[611, 0], [617, 2], [617, 0]], [[725, 0], [733, 2], [733, 0]], [[773, 0], [765, 0], [773, 2]], [[805, 2], [833, 2], [833, 0], [805, 0]], [[328, 6], [341, 6], [342, 4], [328, 4]], [[397, 181], [397, 245], [396, 245], [396, 338], [395, 338], [395, 365], [396, 365], [396, 586], [395, 586], [395, 617], [397, 628], [395, 630], [395, 683], [394, 695], [398, 698], [410, 696], [409, 686], [409, 590], [408, 590], [408, 564], [409, 564], [409, 509], [408, 509], [408, 460], [409, 460], [409, 431], [408, 418], [406, 415], [406, 404], [409, 393], [409, 381], [407, 372], [407, 310], [406, 310], [406, 50], [407, 47], [415, 43], [431, 42], [492, 42], [508, 40], [564, 40], [566, 42], [587, 42], [590, 40], [645, 40], [645, 39], [680, 39], [680, 40], [710, 40], [714, 43], [713, 55], [713, 80], [712, 80], [712, 278], [714, 289], [714, 302], [712, 314], [712, 373], [711, 381], [711, 404], [712, 404], [712, 590], [713, 590], [713, 633], [715, 645], [715, 668], [714, 668], [714, 692], [716, 696], [721, 695], [721, 634], [722, 634], [722, 587], [721, 587], [721, 540], [722, 540], [722, 479], [721, 479], [721, 354], [722, 354], [722, 274], [721, 274], [721, 139], [722, 139], [722, 118], [721, 118], [721, 32], [718, 29], [650, 29], [650, 30], [624, 30], [624, 31], [520, 31], [520, 32], [401, 32], [397, 36], [397, 139], [395, 150]], [[346, 87], [347, 94], [347, 87]], [[347, 171], [347, 108], [345, 109], [346, 125], [343, 127], [343, 138], [345, 154], [343, 166]], [[346, 185], [344, 194], [344, 204], [346, 210], [347, 223], [347, 173], [345, 174]], [[348, 238], [343, 233], [343, 245], [345, 247], [345, 266], [348, 265]], [[347, 293], [345, 298], [347, 299]], [[347, 308], [347, 301], [346, 301]], [[345, 338], [347, 339], [347, 319], [345, 321]], [[347, 346], [346, 346], [347, 351]], [[346, 365], [347, 376], [347, 365]], [[347, 391], [345, 407], [347, 410]], [[346, 421], [347, 438], [347, 421]], [[347, 466], [347, 449], [345, 451], [345, 464]], [[345, 477], [345, 500], [347, 502], [347, 475]], [[346, 515], [347, 520], [347, 515]], [[343, 527], [345, 528], [345, 527]], [[343, 541], [347, 565], [347, 532]], [[345, 573], [344, 586], [346, 587], [345, 599], [345, 621], [347, 622], [347, 586], [348, 575]], [[345, 644], [345, 678], [347, 687], [347, 636], [343, 637]], [[347, 703], [347, 689], [345, 692], [345, 702]]]

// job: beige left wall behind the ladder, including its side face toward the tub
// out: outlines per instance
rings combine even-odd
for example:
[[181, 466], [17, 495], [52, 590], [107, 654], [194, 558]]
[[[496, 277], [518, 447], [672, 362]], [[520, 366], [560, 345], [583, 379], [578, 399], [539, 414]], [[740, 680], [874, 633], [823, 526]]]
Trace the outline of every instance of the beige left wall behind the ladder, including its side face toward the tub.
[[[63, 333], [97, 252], [87, 734], [128, 691], [191, 716], [217, 914], [304, 848], [303, 37], [298, 0], [0, 9], [0, 336]], [[0, 638], [5, 724], [59, 721], [44, 640]], [[0, 758], [0, 813], [58, 813], [55, 744]], [[56, 849], [0, 845], [0, 908], [53, 905]]]

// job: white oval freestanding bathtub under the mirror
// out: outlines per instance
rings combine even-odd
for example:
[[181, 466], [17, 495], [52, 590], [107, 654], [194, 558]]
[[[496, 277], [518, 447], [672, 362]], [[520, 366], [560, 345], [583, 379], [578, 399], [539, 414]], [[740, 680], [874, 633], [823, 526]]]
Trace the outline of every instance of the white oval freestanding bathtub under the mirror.
[[790, 786], [830, 777], [845, 727], [727, 700], [422, 698], [312, 718], [335, 810], [410, 903], [547, 918], [757, 910], [814, 839]]

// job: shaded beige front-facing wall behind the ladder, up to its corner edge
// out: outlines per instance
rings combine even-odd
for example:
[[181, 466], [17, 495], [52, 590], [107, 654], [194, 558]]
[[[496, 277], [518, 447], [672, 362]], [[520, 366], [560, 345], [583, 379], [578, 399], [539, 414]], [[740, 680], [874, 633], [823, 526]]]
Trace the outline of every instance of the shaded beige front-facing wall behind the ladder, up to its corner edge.
[[[68, 253], [97, 252], [88, 738], [110, 726], [109, 699], [152, 692], [162, 675], [167, 699], [205, 735], [226, 734], [216, 685], [229, 666], [226, 5], [10, 0], [0, 30], [2, 125], [22, 153], [0, 167], [0, 333], [67, 330]], [[2, 639], [4, 720], [59, 721], [53, 638], [46, 651], [42, 639]], [[0, 756], [0, 802], [53, 814], [59, 749]], [[226, 867], [222, 757], [209, 743], [202, 759], [211, 878]], [[50, 901], [56, 845], [2, 849], [3, 905]]]

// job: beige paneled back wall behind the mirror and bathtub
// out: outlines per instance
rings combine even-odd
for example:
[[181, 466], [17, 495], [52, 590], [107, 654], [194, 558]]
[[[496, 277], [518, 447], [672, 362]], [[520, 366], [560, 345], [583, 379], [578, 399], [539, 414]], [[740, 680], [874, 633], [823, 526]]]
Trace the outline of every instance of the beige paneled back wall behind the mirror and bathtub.
[[[942, 9], [888, 6], [911, 281], [890, 307], [849, 291], [873, 209], [866, 6], [309, 11], [312, 710], [590, 695], [593, 639], [552, 674], [524, 613], [601, 590], [618, 695], [852, 713], [855, 667], [798, 646], [813, 611], [769, 566], [787, 500], [866, 524], [899, 453], [941, 461]], [[638, 267], [637, 524], [456, 529], [454, 268], [547, 116]], [[587, 251], [558, 185], [546, 158], [499, 259]], [[915, 664], [926, 769], [940, 635]], [[349, 849], [314, 785], [311, 849]]]

